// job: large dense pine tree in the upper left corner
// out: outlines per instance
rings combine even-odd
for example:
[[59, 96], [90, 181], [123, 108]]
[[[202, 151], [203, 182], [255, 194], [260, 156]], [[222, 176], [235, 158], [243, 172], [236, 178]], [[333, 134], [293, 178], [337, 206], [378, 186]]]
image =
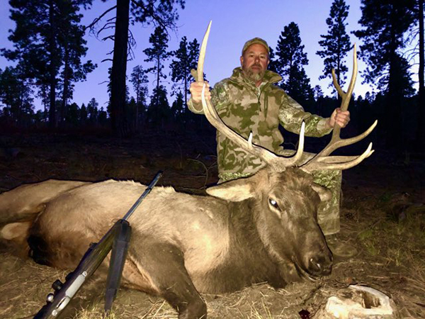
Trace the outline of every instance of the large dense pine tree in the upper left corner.
[[[51, 126], [57, 125], [57, 88], [64, 56], [85, 55], [81, 27], [78, 27], [81, 15], [77, 12], [80, 6], [91, 4], [91, 1], [9, 1], [11, 19], [16, 22], [16, 28], [11, 30], [8, 39], [14, 43], [14, 50], [2, 50], [2, 55], [23, 65], [27, 77], [42, 86], [48, 85]], [[67, 54], [64, 54], [65, 47], [68, 47]], [[89, 69], [86, 71], [89, 72]], [[67, 80], [71, 82], [72, 77], [67, 77]]]

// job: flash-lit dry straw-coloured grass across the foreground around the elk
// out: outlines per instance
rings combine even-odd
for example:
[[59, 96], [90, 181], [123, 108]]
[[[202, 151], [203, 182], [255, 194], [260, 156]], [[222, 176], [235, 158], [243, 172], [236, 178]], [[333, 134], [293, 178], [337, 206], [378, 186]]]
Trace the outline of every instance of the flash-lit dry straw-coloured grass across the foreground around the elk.
[[[314, 314], [348, 284], [365, 284], [386, 293], [397, 306], [398, 318], [425, 318], [425, 214], [411, 212], [397, 222], [387, 218], [379, 201], [370, 205], [373, 198], [356, 203], [354, 216], [352, 207], [342, 211], [350, 218], [343, 218], [340, 237], [358, 247], [358, 256], [336, 260], [332, 275], [317, 283], [290, 284], [278, 291], [256, 284], [236, 293], [205, 294], [208, 318], [300, 319], [301, 310], [307, 310], [310, 318], [321, 318]], [[66, 275], [8, 253], [1, 255], [0, 267], [2, 274], [8, 274], [0, 278], [0, 318], [8, 319], [32, 318], [52, 282]], [[102, 318], [104, 285], [101, 277], [89, 281], [63, 318]], [[108, 318], [177, 318], [177, 314], [162, 298], [121, 289]]]

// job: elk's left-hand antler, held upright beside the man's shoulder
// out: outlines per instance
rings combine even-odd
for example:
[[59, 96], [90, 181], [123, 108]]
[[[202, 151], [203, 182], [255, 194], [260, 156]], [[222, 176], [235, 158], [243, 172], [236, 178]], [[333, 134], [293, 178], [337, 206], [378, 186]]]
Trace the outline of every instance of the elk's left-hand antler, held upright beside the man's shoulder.
[[[198, 74], [196, 79], [197, 82], [203, 82], [203, 65], [205, 60], [206, 47], [208, 43], [208, 36], [210, 35], [211, 22], [212, 21], [210, 21], [210, 23], [208, 24], [207, 31], [205, 32], [205, 36], [200, 47]], [[272, 167], [272, 169], [275, 169], [278, 172], [282, 172], [285, 170], [285, 167], [293, 166], [300, 160], [302, 156], [302, 151], [304, 149], [304, 123], [302, 123], [300, 132], [300, 142], [298, 144], [296, 154], [290, 158], [280, 157], [259, 145], [254, 145], [252, 143], [252, 133], [249, 135], [249, 139], [246, 140], [234, 130], [229, 128], [217, 114], [217, 111], [215, 110], [215, 107], [212, 105], [211, 101], [205, 99], [205, 84], [202, 90], [202, 105], [205, 117], [208, 119], [208, 122], [210, 122], [212, 126], [214, 126], [220, 133], [225, 135], [226, 138], [234, 142], [239, 147], [242, 147], [243, 150], [249, 152], [252, 155], [256, 155], [261, 160], [263, 160], [263, 162], [266, 162], [266, 164]]]

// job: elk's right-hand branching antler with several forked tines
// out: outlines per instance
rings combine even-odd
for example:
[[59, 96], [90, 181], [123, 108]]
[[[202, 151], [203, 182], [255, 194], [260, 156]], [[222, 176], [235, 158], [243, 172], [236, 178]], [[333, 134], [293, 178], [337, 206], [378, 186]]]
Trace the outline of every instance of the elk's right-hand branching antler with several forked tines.
[[[357, 53], [356, 53], [356, 45], [354, 45], [353, 50], [353, 74], [351, 75], [351, 81], [348, 86], [348, 90], [346, 93], [342, 91], [341, 86], [339, 86], [338, 81], [335, 77], [335, 70], [332, 69], [332, 79], [334, 82], [334, 86], [336, 91], [338, 91], [339, 96], [342, 98], [341, 102], [341, 110], [346, 111], [348, 109], [348, 103], [350, 103], [351, 95], [353, 94], [354, 84], [356, 83], [357, 77]], [[350, 167], [356, 166], [363, 159], [372, 155], [372, 143], [369, 144], [367, 150], [363, 152], [360, 156], [329, 156], [331, 152], [338, 149], [339, 147], [351, 145], [359, 140], [363, 140], [366, 136], [372, 132], [375, 128], [378, 121], [375, 121], [370, 128], [365, 130], [361, 135], [357, 135], [354, 138], [346, 138], [342, 139], [339, 137], [341, 133], [341, 127], [338, 124], [335, 124], [334, 132], [332, 133], [332, 138], [329, 144], [324, 147], [322, 152], [319, 152], [315, 157], [313, 157], [309, 162], [302, 166], [302, 169], [305, 171], [311, 172], [317, 169], [348, 169]]]

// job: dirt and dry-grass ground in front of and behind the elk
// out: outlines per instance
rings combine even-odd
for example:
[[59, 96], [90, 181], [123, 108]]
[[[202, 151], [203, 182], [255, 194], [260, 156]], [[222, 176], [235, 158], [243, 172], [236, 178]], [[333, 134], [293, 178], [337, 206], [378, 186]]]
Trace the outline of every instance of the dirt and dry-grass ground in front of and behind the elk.
[[[0, 135], [0, 192], [45, 179], [133, 179], [202, 194], [217, 181], [214, 135], [145, 134], [131, 140], [64, 134]], [[336, 259], [331, 276], [274, 290], [258, 284], [203, 295], [208, 318], [319, 318], [329, 296], [349, 284], [378, 289], [397, 308], [394, 318], [425, 318], [425, 158], [397, 159], [377, 150], [344, 172], [339, 240], [358, 255]], [[107, 196], [107, 195], [106, 195]], [[51, 284], [67, 272], [0, 250], [0, 318], [32, 318]], [[101, 318], [105, 280], [94, 275], [62, 318]], [[162, 298], [120, 289], [111, 318], [176, 318]], [[323, 318], [323, 317], [321, 317]]]

